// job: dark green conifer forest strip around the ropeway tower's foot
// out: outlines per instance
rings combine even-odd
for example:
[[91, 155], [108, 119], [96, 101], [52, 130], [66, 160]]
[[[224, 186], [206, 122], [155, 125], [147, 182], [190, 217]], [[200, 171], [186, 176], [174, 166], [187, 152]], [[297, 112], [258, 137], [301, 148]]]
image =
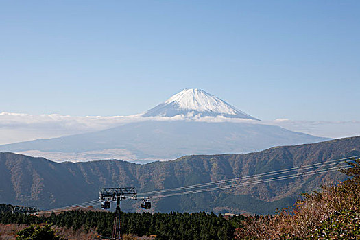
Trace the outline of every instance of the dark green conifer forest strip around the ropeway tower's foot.
[[[89, 231], [96, 228], [99, 235], [111, 237], [114, 213], [103, 211], [65, 211], [49, 217], [22, 213], [12, 214], [9, 205], [0, 206], [1, 224], [50, 224], [64, 228]], [[213, 213], [121, 213], [123, 233], [156, 235], [156, 239], [233, 239], [235, 228], [245, 217], [225, 219]]]

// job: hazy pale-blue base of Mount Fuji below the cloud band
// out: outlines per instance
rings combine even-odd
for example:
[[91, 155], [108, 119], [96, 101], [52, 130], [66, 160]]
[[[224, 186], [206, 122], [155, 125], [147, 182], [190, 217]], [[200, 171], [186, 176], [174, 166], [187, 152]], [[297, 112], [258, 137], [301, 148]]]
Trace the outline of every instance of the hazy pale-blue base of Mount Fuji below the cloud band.
[[143, 121], [98, 132], [0, 145], [0, 151], [25, 152], [59, 162], [123, 159], [146, 163], [189, 154], [246, 153], [326, 140], [274, 125]]

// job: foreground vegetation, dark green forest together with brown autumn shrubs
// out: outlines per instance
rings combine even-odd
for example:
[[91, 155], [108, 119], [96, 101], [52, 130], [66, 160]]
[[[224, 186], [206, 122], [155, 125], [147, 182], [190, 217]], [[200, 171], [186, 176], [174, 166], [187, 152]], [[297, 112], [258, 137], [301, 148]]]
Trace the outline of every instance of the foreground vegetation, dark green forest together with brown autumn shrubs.
[[[122, 213], [125, 239], [152, 236], [151, 239], [359, 239], [360, 237], [360, 158], [348, 160], [341, 170], [350, 178], [337, 185], [323, 187], [321, 192], [305, 194], [294, 208], [283, 209], [276, 215], [243, 215], [223, 217], [213, 213]], [[104, 239], [112, 235], [114, 213], [106, 211], [63, 211], [45, 215], [11, 213], [12, 206], [0, 204], [1, 224], [25, 224], [18, 232], [34, 232], [33, 225], [60, 228], [73, 239], [80, 232]], [[47, 216], [46, 216], [47, 215]], [[39, 226], [36, 229], [41, 230]], [[1, 232], [0, 232], [1, 233]], [[103, 237], [104, 236], [104, 237]], [[29, 239], [29, 238], [21, 238]], [[39, 238], [35, 238], [39, 239]], [[85, 238], [83, 238], [85, 239]], [[87, 238], [88, 239], [88, 238]]]

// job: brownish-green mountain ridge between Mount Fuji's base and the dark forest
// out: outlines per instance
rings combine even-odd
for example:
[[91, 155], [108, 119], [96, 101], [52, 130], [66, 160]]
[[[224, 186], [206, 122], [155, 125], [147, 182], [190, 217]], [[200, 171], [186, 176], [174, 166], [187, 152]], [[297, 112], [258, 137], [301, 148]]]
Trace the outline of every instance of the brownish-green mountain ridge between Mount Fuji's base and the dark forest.
[[[121, 160], [54, 163], [0, 153], [0, 202], [55, 208], [96, 200], [103, 187], [136, 187], [139, 193], [226, 180], [325, 160], [360, 155], [360, 137], [322, 143], [274, 147], [252, 154], [184, 156], [167, 162], [136, 165]], [[274, 213], [291, 206], [299, 193], [344, 180], [338, 172], [254, 184], [223, 191], [155, 200], [154, 211], [232, 211]], [[125, 201], [127, 202], [127, 201]], [[130, 205], [125, 211], [138, 211]]]

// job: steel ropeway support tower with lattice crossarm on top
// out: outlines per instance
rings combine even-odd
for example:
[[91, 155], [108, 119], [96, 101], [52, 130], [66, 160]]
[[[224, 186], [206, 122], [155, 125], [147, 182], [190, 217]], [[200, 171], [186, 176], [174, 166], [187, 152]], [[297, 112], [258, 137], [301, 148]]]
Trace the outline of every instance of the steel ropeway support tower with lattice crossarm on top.
[[127, 197], [132, 197], [132, 200], [137, 200], [137, 191], [134, 187], [111, 187], [104, 188], [99, 191], [99, 201], [109, 202], [117, 201], [117, 208], [115, 210], [114, 223], [112, 226], [112, 240], [122, 240], [123, 232], [121, 231], [121, 209], [120, 201]]

